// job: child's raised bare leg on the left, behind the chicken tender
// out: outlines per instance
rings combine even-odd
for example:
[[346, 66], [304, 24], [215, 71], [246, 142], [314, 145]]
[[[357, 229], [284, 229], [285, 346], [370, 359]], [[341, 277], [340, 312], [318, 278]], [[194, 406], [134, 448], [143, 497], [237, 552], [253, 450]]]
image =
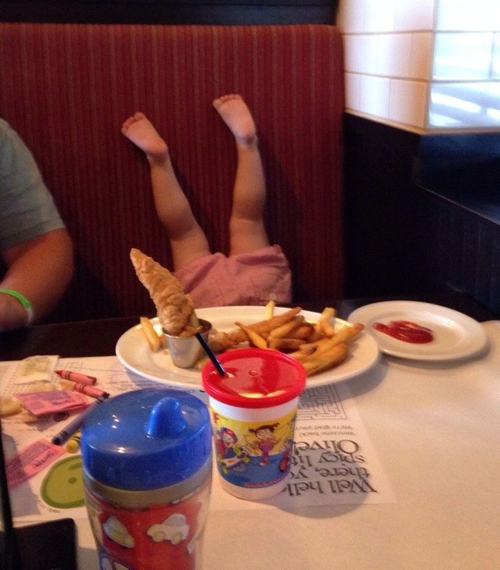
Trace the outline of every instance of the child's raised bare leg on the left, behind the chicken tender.
[[209, 254], [207, 238], [179, 186], [166, 142], [143, 113], [128, 118], [122, 133], [146, 153], [155, 208], [170, 239], [174, 270]]

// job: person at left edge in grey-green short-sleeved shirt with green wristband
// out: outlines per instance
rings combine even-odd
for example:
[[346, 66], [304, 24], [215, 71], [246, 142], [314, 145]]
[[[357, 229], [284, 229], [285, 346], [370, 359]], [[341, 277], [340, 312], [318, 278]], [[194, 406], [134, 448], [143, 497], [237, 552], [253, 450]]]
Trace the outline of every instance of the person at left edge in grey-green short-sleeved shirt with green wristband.
[[34, 157], [0, 119], [0, 331], [41, 320], [73, 275], [73, 241]]

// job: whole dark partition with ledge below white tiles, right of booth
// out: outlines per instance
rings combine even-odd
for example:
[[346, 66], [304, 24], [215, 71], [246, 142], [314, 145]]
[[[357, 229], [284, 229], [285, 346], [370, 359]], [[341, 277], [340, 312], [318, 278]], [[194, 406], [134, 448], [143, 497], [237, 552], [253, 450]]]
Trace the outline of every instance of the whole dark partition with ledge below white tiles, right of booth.
[[346, 296], [459, 292], [498, 314], [498, 134], [344, 127]]

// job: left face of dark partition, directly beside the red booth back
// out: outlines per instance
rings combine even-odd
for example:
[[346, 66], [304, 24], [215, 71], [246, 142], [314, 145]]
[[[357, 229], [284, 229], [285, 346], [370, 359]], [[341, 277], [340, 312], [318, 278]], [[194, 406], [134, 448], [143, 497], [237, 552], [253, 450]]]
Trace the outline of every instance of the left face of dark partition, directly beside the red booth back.
[[420, 135], [345, 115], [347, 296], [398, 295], [409, 282], [410, 197]]

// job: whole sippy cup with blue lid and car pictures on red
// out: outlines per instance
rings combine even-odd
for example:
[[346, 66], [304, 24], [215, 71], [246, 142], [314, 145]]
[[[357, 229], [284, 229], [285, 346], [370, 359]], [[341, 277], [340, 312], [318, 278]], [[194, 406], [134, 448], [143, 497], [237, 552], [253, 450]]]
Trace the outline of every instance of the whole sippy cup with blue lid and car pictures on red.
[[106, 399], [81, 449], [101, 569], [201, 568], [212, 430], [200, 399], [161, 388]]

